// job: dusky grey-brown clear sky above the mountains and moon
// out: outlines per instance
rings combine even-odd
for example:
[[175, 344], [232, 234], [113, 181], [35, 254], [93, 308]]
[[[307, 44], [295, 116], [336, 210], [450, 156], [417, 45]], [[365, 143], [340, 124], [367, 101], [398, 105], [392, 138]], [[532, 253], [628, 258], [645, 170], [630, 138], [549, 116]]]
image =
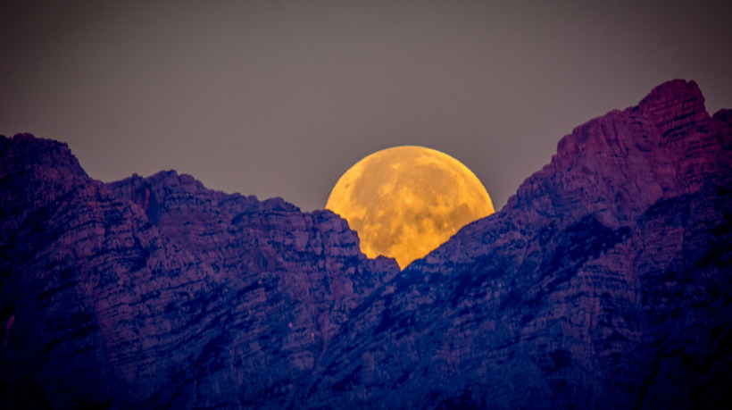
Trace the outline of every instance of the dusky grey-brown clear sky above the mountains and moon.
[[390, 146], [464, 163], [496, 210], [557, 142], [670, 79], [732, 107], [732, 2], [0, 3], [0, 134], [111, 181], [325, 206]]

